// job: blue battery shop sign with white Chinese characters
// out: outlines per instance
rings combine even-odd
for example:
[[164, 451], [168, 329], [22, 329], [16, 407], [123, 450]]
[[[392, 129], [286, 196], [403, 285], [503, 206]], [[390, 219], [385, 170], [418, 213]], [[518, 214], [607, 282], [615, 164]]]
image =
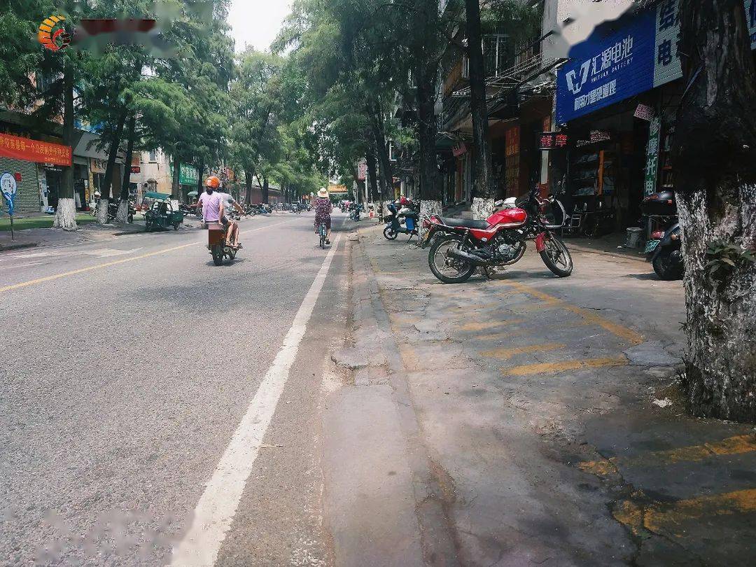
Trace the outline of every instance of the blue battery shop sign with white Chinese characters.
[[[679, 0], [663, 0], [652, 10], [603, 26], [575, 45], [556, 73], [557, 122], [564, 124], [680, 79], [679, 8]], [[756, 0], [745, 0], [745, 14], [751, 48], [756, 48]]]

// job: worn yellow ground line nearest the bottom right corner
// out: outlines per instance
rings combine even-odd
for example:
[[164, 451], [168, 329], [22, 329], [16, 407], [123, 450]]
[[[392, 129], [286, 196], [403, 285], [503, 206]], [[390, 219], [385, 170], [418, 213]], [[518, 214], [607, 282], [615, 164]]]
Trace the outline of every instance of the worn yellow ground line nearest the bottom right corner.
[[654, 533], [682, 535], [686, 522], [702, 518], [731, 516], [756, 512], [756, 488], [677, 500], [674, 503], [652, 503], [644, 506], [634, 500], [624, 500], [612, 510], [618, 522], [634, 533], [641, 528]]

